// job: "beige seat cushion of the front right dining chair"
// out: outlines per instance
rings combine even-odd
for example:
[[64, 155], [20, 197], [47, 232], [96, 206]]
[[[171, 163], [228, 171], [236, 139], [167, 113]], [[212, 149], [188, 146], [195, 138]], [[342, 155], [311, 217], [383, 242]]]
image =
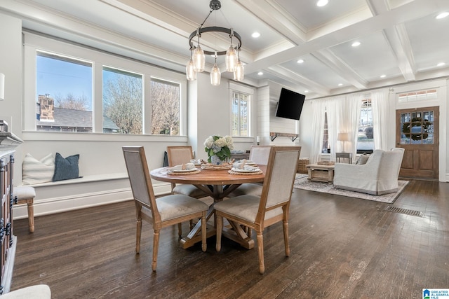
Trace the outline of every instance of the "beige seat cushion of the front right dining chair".
[[[217, 202], [214, 206], [216, 211], [222, 211], [232, 216], [242, 218], [246, 221], [254, 223], [255, 216], [259, 209], [260, 197], [255, 195], [240, 195], [229, 200]], [[267, 211], [265, 220], [283, 214], [281, 207]]]

